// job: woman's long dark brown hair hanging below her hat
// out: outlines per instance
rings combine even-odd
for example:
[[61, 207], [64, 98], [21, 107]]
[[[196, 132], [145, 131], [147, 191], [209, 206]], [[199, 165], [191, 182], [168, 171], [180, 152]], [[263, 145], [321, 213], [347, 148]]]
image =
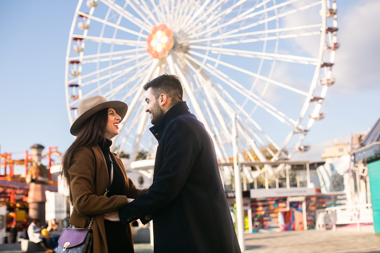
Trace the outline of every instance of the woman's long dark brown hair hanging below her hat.
[[71, 159], [80, 147], [95, 145], [98, 142], [105, 142], [104, 134], [106, 131], [107, 122], [108, 108], [102, 109], [89, 117], [83, 123], [78, 131], [77, 137], [62, 157], [60, 174], [63, 182], [65, 182], [65, 185], [68, 187], [71, 203], [73, 202], [73, 198], [71, 196], [70, 175], [68, 173], [71, 166]]

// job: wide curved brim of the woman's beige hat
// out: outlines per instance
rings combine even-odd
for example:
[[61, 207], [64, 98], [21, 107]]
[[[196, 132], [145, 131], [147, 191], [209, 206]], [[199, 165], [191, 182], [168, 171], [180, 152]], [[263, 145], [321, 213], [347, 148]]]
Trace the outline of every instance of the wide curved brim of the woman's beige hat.
[[103, 103], [99, 103], [84, 113], [80, 115], [74, 122], [73, 125], [71, 125], [70, 128], [70, 133], [74, 136], [77, 136], [78, 131], [81, 129], [81, 126], [83, 123], [91, 117], [91, 115], [97, 113], [98, 111], [105, 109], [105, 108], [114, 108], [116, 113], [120, 116], [121, 120], [120, 122], [124, 119], [125, 114], [127, 114], [128, 111], [128, 105], [122, 101], [106, 101]]

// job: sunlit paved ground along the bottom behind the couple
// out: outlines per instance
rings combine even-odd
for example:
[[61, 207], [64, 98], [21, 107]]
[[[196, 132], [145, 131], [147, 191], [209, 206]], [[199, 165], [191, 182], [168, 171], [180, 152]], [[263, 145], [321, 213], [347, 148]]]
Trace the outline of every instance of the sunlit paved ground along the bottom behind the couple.
[[[337, 231], [308, 230], [245, 234], [245, 253], [375, 253], [380, 235], [373, 226], [338, 228]], [[2, 253], [21, 253], [20, 244], [0, 245]], [[150, 244], [135, 244], [136, 253], [153, 253]], [[180, 253], [180, 252], [179, 252]]]

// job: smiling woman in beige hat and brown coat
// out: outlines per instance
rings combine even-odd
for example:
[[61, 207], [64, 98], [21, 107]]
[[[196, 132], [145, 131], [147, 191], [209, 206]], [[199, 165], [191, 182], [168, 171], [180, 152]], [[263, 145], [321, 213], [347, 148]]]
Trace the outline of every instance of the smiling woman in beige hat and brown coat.
[[79, 117], [70, 128], [77, 137], [62, 159], [61, 174], [73, 204], [69, 223], [87, 228], [95, 217], [91, 225], [94, 253], [134, 252], [130, 225], [104, 220], [104, 213], [118, 210], [128, 203], [127, 198], [135, 199], [147, 190], [136, 188], [122, 161], [109, 150], [127, 109], [127, 104], [103, 96], [81, 101]]

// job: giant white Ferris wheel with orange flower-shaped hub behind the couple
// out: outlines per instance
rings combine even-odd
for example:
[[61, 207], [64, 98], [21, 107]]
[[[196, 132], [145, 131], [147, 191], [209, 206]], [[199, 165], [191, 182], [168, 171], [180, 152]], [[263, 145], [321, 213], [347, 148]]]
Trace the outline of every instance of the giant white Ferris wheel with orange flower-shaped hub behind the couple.
[[70, 123], [84, 98], [124, 101], [113, 151], [154, 155], [142, 85], [170, 73], [221, 162], [235, 115], [240, 159], [289, 159], [325, 117], [336, 10], [335, 0], [79, 0], [66, 56]]

